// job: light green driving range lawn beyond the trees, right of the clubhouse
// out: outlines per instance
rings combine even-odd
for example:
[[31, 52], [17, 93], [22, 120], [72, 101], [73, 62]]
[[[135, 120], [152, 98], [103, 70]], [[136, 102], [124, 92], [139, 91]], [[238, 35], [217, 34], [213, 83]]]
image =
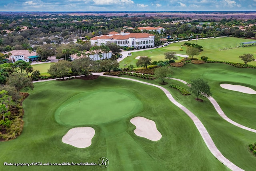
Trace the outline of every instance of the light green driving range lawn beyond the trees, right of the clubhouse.
[[[252, 40], [242, 39], [242, 38], [234, 38], [234, 37], [226, 37], [226, 38], [212, 38], [212, 39], [203, 39], [203, 40], [192, 40], [189, 43], [199, 44], [203, 46], [204, 51], [200, 52], [198, 56], [194, 56], [195, 58], [200, 59], [201, 56], [208, 56], [208, 60], [221, 60], [221, 61], [229, 61], [229, 62], [237, 62], [244, 63], [244, 61], [238, 58], [243, 54], [254, 54], [256, 58], [256, 46], [249, 46], [244, 48], [237, 48], [240, 45], [240, 42], [251, 42]], [[177, 42], [176, 44], [170, 44], [163, 48], [156, 48], [152, 50], [145, 50], [139, 52], [132, 52], [132, 56], [126, 57], [124, 60], [120, 62], [120, 68], [124, 68], [124, 64], [134, 65], [136, 66], [136, 58], [137, 56], [149, 56], [153, 61], [165, 60], [164, 52], [174, 51], [176, 54], [186, 54], [186, 46], [182, 46], [183, 51], [180, 51], [180, 46], [183, 45], [184, 42]], [[232, 48], [227, 50], [220, 50]], [[177, 61], [180, 61], [182, 57], [179, 57]], [[248, 62], [250, 65], [256, 66], [256, 62]]]

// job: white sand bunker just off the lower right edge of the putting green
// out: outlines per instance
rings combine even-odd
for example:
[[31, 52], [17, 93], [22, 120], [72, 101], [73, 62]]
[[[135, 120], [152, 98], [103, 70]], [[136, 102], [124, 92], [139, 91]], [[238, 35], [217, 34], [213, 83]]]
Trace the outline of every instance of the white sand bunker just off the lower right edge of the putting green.
[[139, 137], [147, 138], [151, 141], [158, 141], [162, 138], [161, 133], [156, 128], [156, 123], [145, 117], [134, 117], [130, 122], [136, 126], [134, 133]]

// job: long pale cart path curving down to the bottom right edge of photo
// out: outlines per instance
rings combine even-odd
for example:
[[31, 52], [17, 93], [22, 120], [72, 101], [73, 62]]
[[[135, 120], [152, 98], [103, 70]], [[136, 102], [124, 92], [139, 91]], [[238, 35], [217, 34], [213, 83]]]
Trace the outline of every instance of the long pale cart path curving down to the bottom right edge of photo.
[[176, 101], [172, 97], [171, 93], [167, 89], [165, 89], [164, 87], [161, 87], [161, 86], [155, 85], [155, 84], [151, 84], [151, 83], [147, 83], [147, 82], [142, 82], [142, 81], [139, 81], [139, 80], [134, 80], [134, 79], [131, 79], [131, 78], [123, 78], [123, 77], [118, 77], [118, 76], [107, 76], [107, 75], [103, 75], [103, 73], [93, 73], [93, 75], [105, 76], [105, 77], [111, 77], [111, 78], [119, 78], [119, 79], [124, 79], [124, 80], [131, 80], [131, 81], [134, 81], [134, 82], [139, 82], [139, 83], [142, 83], [142, 84], [152, 85], [154, 87], [158, 87], [158, 88], [162, 89], [162, 91], [164, 91], [164, 93], [166, 94], [168, 99], [172, 103], [174, 103], [176, 106], [178, 106], [180, 109], [182, 109], [192, 119], [192, 121], [196, 125], [196, 128], [198, 129], [202, 138], [204, 139], [204, 142], [206, 143], [206, 146], [211, 151], [211, 153], [214, 155], [214, 157], [216, 157], [216, 159], [218, 159], [221, 163], [223, 163], [224, 165], [226, 165], [229, 169], [231, 169], [233, 171], [243, 171], [243, 169], [236, 166], [234, 163], [232, 163], [226, 157], [224, 157], [224, 155], [222, 155], [222, 153], [220, 153], [220, 151], [217, 149], [216, 145], [212, 141], [212, 138], [210, 137], [206, 128], [204, 127], [202, 122], [198, 119], [198, 117], [196, 117], [196, 115], [194, 115], [186, 107], [184, 107], [183, 105], [178, 103], [178, 101]]

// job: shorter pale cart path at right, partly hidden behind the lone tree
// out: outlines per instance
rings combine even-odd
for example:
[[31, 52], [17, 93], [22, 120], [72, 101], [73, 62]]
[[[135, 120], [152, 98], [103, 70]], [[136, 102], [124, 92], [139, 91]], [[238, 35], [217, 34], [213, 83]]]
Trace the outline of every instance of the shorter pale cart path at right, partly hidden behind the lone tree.
[[[180, 81], [180, 82], [182, 82], [182, 83], [184, 83], [184, 84], [188, 84], [187, 82], [185, 82], [185, 81], [183, 81], [183, 80], [180, 80], [180, 79], [176, 79], [176, 78], [172, 78], [172, 79], [173, 79], [173, 80]], [[220, 108], [220, 105], [217, 103], [217, 101], [216, 101], [212, 96], [208, 97], [208, 99], [209, 99], [210, 102], [212, 103], [212, 105], [213, 105], [213, 107], [215, 108], [215, 110], [217, 111], [217, 113], [218, 113], [223, 119], [225, 119], [226, 121], [228, 121], [229, 123], [231, 123], [231, 124], [233, 124], [233, 125], [235, 125], [235, 126], [237, 126], [237, 127], [240, 127], [240, 128], [245, 129], [245, 130], [247, 130], [247, 131], [251, 131], [251, 132], [256, 133], [256, 130], [255, 130], [255, 129], [246, 127], [246, 126], [244, 126], [244, 125], [241, 125], [240, 123], [236, 123], [235, 121], [229, 119], [229, 118], [225, 115], [224, 111], [222, 111], [222, 109]]]

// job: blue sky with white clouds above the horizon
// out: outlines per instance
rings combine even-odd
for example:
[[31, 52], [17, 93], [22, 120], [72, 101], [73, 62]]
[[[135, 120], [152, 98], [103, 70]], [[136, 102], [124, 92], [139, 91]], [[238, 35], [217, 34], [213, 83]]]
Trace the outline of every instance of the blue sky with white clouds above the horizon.
[[0, 0], [0, 11], [256, 11], [256, 0]]

